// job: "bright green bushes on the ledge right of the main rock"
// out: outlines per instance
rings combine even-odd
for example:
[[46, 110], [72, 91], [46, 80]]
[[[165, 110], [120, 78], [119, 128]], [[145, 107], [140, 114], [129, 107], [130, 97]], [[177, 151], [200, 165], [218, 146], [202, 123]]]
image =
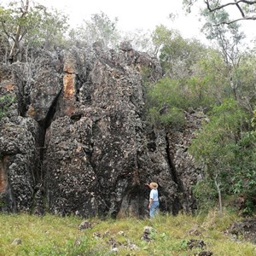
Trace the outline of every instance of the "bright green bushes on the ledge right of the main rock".
[[[200, 67], [201, 65], [201, 67]], [[199, 68], [210, 65], [207, 61]], [[219, 90], [223, 80], [212, 73], [199, 73], [187, 79], [160, 79], [148, 88], [149, 119], [152, 123], [180, 130], [184, 111], [188, 108], [209, 108], [224, 97]]]

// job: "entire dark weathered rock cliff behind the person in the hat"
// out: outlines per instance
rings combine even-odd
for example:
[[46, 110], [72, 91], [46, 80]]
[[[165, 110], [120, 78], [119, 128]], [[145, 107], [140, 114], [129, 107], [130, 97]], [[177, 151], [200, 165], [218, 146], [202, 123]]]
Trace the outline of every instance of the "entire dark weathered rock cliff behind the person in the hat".
[[130, 44], [44, 53], [29, 80], [22, 64], [1, 66], [1, 94], [12, 84], [16, 96], [0, 123], [6, 209], [38, 212], [45, 197], [49, 212], [144, 215], [150, 181], [160, 185], [161, 210], [191, 209], [197, 176], [185, 148], [196, 127], [168, 136], [147, 125], [143, 67], [160, 79], [158, 61]]

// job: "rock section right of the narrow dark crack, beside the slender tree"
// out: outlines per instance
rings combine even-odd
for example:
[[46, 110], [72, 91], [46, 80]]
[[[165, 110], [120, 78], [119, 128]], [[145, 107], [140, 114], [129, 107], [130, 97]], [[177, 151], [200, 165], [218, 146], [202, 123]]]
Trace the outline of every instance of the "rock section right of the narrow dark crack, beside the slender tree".
[[186, 113], [186, 127], [184, 131], [168, 133], [168, 146], [170, 152], [170, 165], [172, 166], [172, 178], [177, 183], [179, 203], [184, 212], [193, 212], [196, 208], [195, 198], [192, 195], [192, 186], [200, 177], [202, 166], [196, 166], [188, 149], [190, 142], [195, 137], [203, 121], [207, 121], [206, 115], [201, 111]]

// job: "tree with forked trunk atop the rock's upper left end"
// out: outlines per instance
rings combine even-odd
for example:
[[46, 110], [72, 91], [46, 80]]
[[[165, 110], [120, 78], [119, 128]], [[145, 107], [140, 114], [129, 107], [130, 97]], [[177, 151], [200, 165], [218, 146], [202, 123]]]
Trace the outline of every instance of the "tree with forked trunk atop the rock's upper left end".
[[0, 7], [0, 31], [9, 42], [9, 61], [21, 60], [24, 46], [49, 48], [60, 44], [67, 30], [67, 17], [51, 13], [42, 5], [30, 0], [9, 3]]

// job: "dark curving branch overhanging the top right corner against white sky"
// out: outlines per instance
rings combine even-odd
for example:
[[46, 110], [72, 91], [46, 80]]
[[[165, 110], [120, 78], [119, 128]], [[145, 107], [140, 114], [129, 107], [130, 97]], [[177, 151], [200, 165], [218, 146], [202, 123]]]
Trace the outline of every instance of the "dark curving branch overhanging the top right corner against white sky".
[[[188, 12], [191, 11], [191, 7], [194, 3], [199, 2], [198, 0], [183, 0], [183, 6], [187, 9]], [[204, 0], [206, 4], [207, 12], [209, 13], [218, 13], [224, 9], [230, 9], [230, 12], [234, 12], [234, 8], [236, 8], [239, 12], [239, 16], [236, 16], [235, 19], [228, 20], [220, 20], [217, 25], [220, 24], [231, 24], [236, 23], [239, 20], [256, 20], [255, 11], [256, 11], [256, 1], [252, 0], [235, 0], [234, 2], [226, 2], [219, 0]], [[232, 9], [233, 8], [233, 9]]]

